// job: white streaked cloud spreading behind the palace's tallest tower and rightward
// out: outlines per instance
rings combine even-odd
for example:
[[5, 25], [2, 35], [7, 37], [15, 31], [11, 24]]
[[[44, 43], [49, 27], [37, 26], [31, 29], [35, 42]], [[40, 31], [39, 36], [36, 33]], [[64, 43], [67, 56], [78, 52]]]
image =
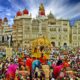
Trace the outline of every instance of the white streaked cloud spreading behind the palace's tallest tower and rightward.
[[26, 0], [29, 2], [30, 12], [32, 16], [38, 15], [38, 8], [41, 2], [45, 5], [45, 12], [49, 14], [51, 11], [56, 18], [70, 19], [80, 14], [80, 3], [70, 4], [69, 0]]

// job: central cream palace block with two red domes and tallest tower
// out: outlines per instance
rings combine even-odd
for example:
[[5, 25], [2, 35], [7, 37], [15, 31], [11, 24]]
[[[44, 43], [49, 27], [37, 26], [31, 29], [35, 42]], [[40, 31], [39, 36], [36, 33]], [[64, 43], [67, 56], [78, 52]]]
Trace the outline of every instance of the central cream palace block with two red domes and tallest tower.
[[65, 44], [70, 46], [69, 20], [56, 19], [51, 12], [46, 15], [43, 4], [39, 7], [36, 19], [32, 18], [26, 8], [23, 11], [19, 10], [14, 18], [13, 47], [27, 47], [31, 41], [41, 36], [54, 42], [57, 47]]

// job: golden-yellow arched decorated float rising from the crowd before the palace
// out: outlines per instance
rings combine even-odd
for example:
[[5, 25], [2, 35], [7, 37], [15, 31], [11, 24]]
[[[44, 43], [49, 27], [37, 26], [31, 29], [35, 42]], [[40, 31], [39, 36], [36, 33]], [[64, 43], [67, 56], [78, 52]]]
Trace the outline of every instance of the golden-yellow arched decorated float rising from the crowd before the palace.
[[33, 40], [31, 44], [32, 44], [32, 57], [40, 58], [41, 57], [40, 47], [44, 46], [44, 50], [43, 50], [44, 56], [49, 58], [50, 41], [47, 38], [39, 37]]

